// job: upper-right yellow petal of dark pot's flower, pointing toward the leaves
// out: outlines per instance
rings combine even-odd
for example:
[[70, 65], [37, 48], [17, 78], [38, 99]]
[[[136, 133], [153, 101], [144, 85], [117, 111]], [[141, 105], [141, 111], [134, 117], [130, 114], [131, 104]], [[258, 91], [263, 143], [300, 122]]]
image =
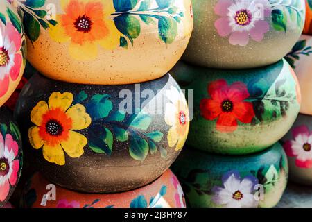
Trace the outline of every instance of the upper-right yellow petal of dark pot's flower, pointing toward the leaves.
[[73, 121], [71, 130], [83, 130], [91, 124], [91, 117], [85, 112], [85, 107], [81, 104], [73, 105], [66, 114]]

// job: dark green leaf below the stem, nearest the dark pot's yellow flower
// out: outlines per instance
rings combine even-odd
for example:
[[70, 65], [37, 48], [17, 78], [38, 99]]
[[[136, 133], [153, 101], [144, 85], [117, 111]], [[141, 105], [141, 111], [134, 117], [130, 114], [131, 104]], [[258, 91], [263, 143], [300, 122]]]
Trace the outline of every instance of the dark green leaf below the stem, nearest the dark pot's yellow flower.
[[112, 155], [113, 135], [109, 129], [94, 125], [88, 129], [88, 134], [88, 144], [92, 151]]

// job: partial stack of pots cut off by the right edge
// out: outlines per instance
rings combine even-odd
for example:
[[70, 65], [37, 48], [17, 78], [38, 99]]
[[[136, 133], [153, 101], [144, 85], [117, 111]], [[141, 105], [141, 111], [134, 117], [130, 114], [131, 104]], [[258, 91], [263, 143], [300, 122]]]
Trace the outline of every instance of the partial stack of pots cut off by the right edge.
[[304, 34], [285, 57], [297, 74], [302, 94], [300, 114], [281, 139], [293, 182], [312, 185], [312, 4], [306, 1]]

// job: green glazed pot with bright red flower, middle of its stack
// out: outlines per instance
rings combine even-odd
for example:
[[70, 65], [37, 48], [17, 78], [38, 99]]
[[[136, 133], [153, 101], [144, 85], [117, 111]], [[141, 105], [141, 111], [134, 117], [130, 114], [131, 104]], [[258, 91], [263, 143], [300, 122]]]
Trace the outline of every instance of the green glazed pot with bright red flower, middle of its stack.
[[183, 89], [193, 89], [187, 144], [203, 151], [261, 151], [288, 132], [299, 112], [300, 88], [285, 60], [237, 71], [180, 62], [171, 74]]

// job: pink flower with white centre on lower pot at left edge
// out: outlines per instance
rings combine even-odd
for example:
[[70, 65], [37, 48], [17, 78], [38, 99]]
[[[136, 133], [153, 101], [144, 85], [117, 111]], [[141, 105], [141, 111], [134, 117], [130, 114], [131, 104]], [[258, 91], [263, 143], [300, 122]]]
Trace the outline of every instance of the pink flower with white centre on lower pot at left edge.
[[19, 172], [19, 160], [16, 159], [19, 146], [10, 134], [3, 136], [0, 133], [0, 202], [6, 200], [10, 185], [17, 182]]

